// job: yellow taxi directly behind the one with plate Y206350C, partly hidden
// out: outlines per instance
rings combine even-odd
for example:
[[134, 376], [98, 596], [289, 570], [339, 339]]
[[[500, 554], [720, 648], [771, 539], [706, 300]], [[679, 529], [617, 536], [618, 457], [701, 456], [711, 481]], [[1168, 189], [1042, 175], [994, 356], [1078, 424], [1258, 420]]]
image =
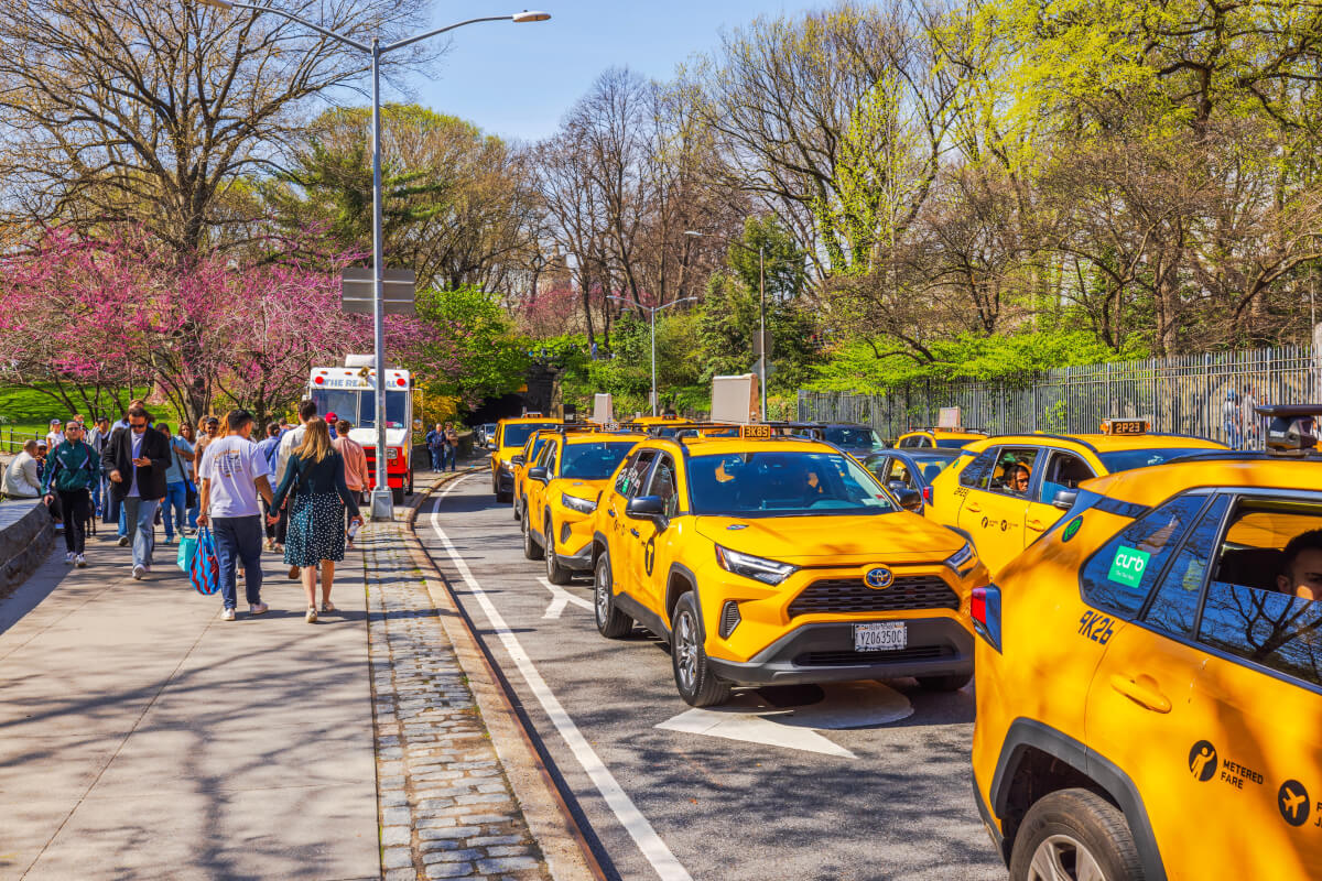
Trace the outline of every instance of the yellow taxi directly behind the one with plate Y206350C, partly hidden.
[[629, 450], [636, 432], [554, 433], [527, 472], [524, 556], [546, 560], [546, 579], [568, 584], [592, 571], [596, 502]]

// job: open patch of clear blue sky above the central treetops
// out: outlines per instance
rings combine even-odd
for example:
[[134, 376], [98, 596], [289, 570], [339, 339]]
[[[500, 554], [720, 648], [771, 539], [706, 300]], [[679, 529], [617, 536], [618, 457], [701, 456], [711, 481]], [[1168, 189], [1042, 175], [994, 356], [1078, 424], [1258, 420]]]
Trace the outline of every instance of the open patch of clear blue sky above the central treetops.
[[[439, 77], [415, 75], [416, 100], [469, 119], [484, 131], [535, 140], [603, 70], [628, 66], [665, 79], [677, 63], [719, 42], [723, 26], [759, 15], [817, 7], [796, 0], [469, 0], [436, 3], [435, 26], [520, 9], [545, 9], [541, 24], [490, 22], [455, 32]], [[395, 99], [395, 95], [387, 95]]]

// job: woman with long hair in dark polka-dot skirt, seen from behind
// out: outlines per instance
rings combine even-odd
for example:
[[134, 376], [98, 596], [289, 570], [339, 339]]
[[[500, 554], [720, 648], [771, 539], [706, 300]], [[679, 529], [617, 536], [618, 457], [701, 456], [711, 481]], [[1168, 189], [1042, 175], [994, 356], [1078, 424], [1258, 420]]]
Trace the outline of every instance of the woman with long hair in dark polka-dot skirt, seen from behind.
[[304, 423], [303, 441], [286, 464], [271, 507], [279, 510], [291, 493], [295, 495], [284, 543], [284, 561], [301, 569], [303, 589], [308, 596], [305, 618], [308, 623], [316, 623], [319, 567], [321, 612], [336, 610], [330, 602], [330, 585], [334, 564], [344, 560], [345, 509], [350, 511], [350, 524], [362, 523], [358, 503], [344, 482], [344, 458], [330, 445], [325, 420], [316, 416]]

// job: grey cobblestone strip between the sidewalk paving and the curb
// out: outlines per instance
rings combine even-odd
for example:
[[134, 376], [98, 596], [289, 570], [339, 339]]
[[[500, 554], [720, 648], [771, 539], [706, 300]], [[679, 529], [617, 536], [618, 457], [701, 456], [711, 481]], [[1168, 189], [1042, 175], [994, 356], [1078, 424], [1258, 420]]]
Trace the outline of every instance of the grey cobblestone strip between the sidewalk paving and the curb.
[[549, 880], [405, 523], [371, 523], [365, 553], [382, 872], [403, 878]]

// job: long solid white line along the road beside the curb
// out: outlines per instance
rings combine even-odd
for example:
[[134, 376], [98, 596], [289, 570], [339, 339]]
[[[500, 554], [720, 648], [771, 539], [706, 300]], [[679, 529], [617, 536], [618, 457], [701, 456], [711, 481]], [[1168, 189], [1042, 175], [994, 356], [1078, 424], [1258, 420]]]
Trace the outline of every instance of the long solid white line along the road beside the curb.
[[542, 679], [542, 674], [538, 672], [533, 660], [527, 656], [527, 652], [524, 651], [524, 646], [520, 645], [518, 638], [514, 637], [509, 625], [505, 623], [505, 618], [492, 604], [490, 598], [477, 582], [477, 579], [473, 577], [472, 571], [468, 568], [468, 563], [464, 561], [464, 557], [459, 555], [455, 546], [451, 543], [449, 536], [447, 536], [444, 530], [440, 528], [440, 503], [464, 479], [467, 478], [461, 477], [452, 481], [449, 486], [442, 491], [440, 497], [436, 498], [431, 511], [432, 531], [446, 547], [446, 553], [449, 555], [449, 559], [459, 571], [460, 577], [464, 579], [464, 584], [468, 585], [468, 590], [473, 594], [473, 598], [481, 608], [483, 614], [486, 616], [486, 621], [490, 623], [492, 630], [494, 630], [496, 635], [500, 637], [501, 645], [505, 646], [505, 651], [514, 660], [514, 666], [518, 667], [518, 672], [524, 676], [524, 682], [527, 683], [527, 687], [537, 697], [537, 701], [550, 717], [551, 724], [555, 725], [555, 730], [558, 730], [561, 737], [564, 738], [564, 744], [570, 748], [570, 752], [574, 753], [574, 758], [576, 758], [579, 765], [583, 766], [583, 770], [587, 771], [588, 778], [594, 785], [596, 785], [602, 798], [605, 799], [611, 811], [613, 811], [615, 816], [620, 820], [620, 826], [624, 827], [633, 841], [639, 845], [639, 849], [642, 851], [642, 856], [652, 864], [657, 876], [661, 877], [662, 881], [693, 881], [687, 869], [685, 869], [680, 860], [676, 859], [674, 853], [670, 852], [670, 848], [666, 847], [666, 843], [661, 840], [660, 835], [657, 835], [657, 831], [652, 827], [648, 818], [642, 815], [642, 812], [633, 803], [633, 799], [629, 798], [628, 793], [625, 793], [615, 779], [615, 775], [605, 766], [605, 762], [602, 761], [602, 758], [596, 754], [596, 750], [592, 749], [592, 745], [587, 742], [586, 737], [583, 737], [578, 725], [574, 724], [574, 720], [564, 711], [564, 707], [561, 705], [559, 699], [546, 684], [546, 680]]

